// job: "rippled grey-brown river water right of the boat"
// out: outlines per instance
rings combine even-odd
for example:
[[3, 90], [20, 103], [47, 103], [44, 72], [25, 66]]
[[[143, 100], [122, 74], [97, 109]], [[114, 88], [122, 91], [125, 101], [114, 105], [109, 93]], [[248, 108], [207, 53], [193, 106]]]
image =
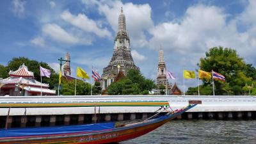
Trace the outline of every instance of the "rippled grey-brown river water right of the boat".
[[256, 120], [173, 120], [127, 143], [256, 144]]

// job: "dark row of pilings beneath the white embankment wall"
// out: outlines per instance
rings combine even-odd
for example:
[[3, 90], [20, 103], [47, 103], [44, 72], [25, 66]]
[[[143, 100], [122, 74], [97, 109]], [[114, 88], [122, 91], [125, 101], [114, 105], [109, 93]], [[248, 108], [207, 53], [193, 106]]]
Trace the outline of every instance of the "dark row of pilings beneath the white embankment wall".
[[[70, 124], [91, 124], [96, 122], [117, 122], [123, 120], [145, 119], [154, 115], [153, 113], [107, 113], [90, 115], [51, 115], [51, 116], [9, 116], [8, 128], [10, 127], [45, 127], [54, 125], [70, 125]], [[232, 112], [186, 112], [177, 116], [175, 120], [256, 120], [256, 113], [254, 111], [240, 111]], [[6, 118], [0, 118], [0, 128], [4, 128]]]

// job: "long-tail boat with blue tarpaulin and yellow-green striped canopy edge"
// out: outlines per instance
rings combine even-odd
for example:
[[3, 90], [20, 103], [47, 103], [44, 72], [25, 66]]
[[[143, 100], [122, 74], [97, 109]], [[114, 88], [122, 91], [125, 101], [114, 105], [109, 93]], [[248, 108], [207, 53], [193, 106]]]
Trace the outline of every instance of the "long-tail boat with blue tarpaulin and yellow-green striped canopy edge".
[[[173, 111], [168, 101], [161, 102], [97, 102], [83, 104], [12, 104], [12, 108], [38, 108], [61, 106], [161, 106], [160, 111], [142, 122], [116, 125], [115, 122], [98, 124], [67, 125], [53, 127], [31, 127], [0, 129], [0, 143], [117, 143], [147, 134], [196, 104]], [[10, 104], [0, 104], [8, 108]], [[164, 115], [159, 115], [166, 112]], [[163, 113], [162, 113], [163, 114]]]

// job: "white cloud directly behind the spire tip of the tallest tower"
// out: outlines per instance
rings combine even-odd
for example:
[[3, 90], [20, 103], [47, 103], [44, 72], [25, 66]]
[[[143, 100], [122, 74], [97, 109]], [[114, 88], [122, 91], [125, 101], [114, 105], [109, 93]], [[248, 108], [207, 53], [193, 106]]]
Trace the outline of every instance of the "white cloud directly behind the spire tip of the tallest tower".
[[131, 44], [134, 47], [144, 47], [148, 44], [145, 31], [154, 26], [151, 19], [151, 7], [149, 4], [133, 4], [121, 1], [108, 1], [108, 3], [95, 3], [102, 15], [106, 16], [111, 28], [118, 29], [118, 15], [123, 7], [126, 28], [131, 38]]

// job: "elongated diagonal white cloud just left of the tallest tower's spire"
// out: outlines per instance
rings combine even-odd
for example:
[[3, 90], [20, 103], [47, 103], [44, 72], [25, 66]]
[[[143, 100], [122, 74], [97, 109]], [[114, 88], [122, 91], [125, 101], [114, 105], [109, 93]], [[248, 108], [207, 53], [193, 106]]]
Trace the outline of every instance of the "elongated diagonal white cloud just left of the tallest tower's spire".
[[80, 28], [86, 32], [95, 33], [95, 35], [99, 37], [111, 36], [111, 33], [108, 31], [107, 28], [99, 28], [99, 26], [97, 26], [97, 22], [95, 22], [92, 19], [89, 19], [84, 14], [80, 13], [76, 16], [76, 15], [72, 15], [70, 12], [68, 12], [68, 10], [65, 10], [61, 14], [61, 18], [66, 22], [69, 22], [73, 26], [76, 26], [77, 28]]

